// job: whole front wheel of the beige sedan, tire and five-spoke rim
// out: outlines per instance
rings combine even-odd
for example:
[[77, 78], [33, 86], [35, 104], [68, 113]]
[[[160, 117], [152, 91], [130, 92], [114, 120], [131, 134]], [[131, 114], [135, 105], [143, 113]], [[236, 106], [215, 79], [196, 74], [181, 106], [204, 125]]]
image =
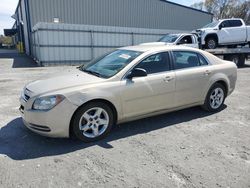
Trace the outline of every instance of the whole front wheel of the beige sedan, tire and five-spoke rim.
[[114, 114], [109, 105], [103, 102], [90, 102], [83, 105], [74, 115], [72, 132], [84, 142], [104, 138], [112, 129]]

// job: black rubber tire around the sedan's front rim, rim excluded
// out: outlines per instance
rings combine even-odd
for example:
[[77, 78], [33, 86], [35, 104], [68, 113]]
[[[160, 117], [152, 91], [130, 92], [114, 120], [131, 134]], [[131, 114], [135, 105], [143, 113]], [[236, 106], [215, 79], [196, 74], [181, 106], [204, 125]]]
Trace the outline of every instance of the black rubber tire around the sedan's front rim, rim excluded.
[[[79, 121], [80, 121], [80, 118], [82, 117], [82, 115], [87, 110], [94, 108], [94, 107], [101, 107], [104, 110], [106, 110], [106, 112], [108, 113], [108, 116], [109, 116], [109, 124], [108, 124], [108, 127], [103, 134], [101, 134], [100, 136], [97, 136], [95, 138], [88, 138], [82, 134], [81, 130], [79, 130]], [[100, 139], [106, 137], [107, 134], [112, 129], [113, 124], [114, 124], [113, 111], [107, 104], [105, 104], [103, 102], [90, 102], [90, 103], [84, 104], [82, 107], [80, 107], [80, 109], [77, 110], [77, 112], [75, 113], [75, 115], [73, 117], [71, 128], [72, 128], [72, 132], [76, 138], [78, 138], [84, 142], [94, 142], [94, 141], [97, 141], [97, 140], [100, 140]]]

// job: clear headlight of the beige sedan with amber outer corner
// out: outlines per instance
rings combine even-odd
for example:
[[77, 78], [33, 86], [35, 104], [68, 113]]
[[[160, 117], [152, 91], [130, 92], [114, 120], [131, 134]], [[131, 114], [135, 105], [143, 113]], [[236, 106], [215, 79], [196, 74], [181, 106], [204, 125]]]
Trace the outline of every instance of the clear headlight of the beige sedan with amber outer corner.
[[65, 97], [62, 95], [52, 95], [46, 97], [37, 98], [32, 108], [34, 110], [50, 110], [59, 104]]

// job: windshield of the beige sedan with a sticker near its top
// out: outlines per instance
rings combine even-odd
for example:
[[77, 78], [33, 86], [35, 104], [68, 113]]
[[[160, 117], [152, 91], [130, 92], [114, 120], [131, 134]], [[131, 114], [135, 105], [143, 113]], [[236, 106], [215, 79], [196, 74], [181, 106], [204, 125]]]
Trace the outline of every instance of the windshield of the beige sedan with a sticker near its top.
[[85, 66], [82, 66], [80, 70], [98, 77], [110, 78], [121, 71], [140, 54], [142, 54], [142, 52], [115, 50]]

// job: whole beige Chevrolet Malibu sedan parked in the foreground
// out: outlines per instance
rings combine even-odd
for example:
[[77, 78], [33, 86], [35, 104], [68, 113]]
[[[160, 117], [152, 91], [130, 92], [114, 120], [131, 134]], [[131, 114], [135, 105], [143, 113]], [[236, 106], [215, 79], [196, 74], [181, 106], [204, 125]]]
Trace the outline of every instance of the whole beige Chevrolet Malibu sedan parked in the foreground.
[[219, 111], [236, 78], [234, 63], [199, 49], [123, 47], [27, 84], [20, 111], [38, 134], [91, 142], [122, 122], [192, 106]]

